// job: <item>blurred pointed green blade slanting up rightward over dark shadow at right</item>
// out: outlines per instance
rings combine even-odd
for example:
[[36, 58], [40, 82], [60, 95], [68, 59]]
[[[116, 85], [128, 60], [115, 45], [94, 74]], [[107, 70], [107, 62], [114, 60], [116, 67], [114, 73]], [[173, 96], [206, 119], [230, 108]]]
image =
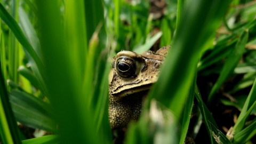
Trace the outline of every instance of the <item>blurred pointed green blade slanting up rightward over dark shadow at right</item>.
[[249, 36], [248, 31], [245, 30], [241, 34], [240, 38], [238, 39], [235, 49], [228, 56], [224, 66], [221, 70], [221, 73], [220, 73], [220, 76], [219, 76], [217, 82], [212, 87], [212, 90], [209, 94], [208, 103], [210, 103], [213, 100], [213, 96], [214, 96], [215, 92], [217, 92], [217, 90], [220, 88], [221, 84], [227, 79], [227, 77], [231, 73], [233, 73], [235, 67], [237, 66], [237, 63], [239, 62], [239, 60], [242, 57], [248, 36]]

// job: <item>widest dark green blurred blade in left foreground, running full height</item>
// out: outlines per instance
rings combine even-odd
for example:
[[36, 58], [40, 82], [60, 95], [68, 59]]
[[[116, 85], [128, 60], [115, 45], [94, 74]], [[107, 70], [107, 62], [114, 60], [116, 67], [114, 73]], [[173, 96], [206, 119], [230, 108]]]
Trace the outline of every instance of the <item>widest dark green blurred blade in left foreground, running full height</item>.
[[[69, 15], [67, 17], [71, 18], [71, 13], [83, 10], [83, 1], [70, 1], [68, 3], [77, 7], [72, 7], [73, 10], [69, 7], [66, 12], [70, 12], [70, 15], [66, 13]], [[84, 75], [82, 75], [82, 71], [84, 71], [84, 66], [81, 67], [81, 63], [86, 63], [87, 58], [85, 59], [86, 61], [82, 62], [82, 58], [79, 58], [81, 57], [79, 52], [83, 52], [84, 50], [82, 49], [84, 47], [71, 45], [77, 42], [76, 39], [79, 39], [79, 44], [75, 46], [80, 46], [80, 44], [84, 43], [84, 39], [80, 42], [84, 35], [78, 34], [83, 34], [86, 31], [81, 33], [78, 31], [85, 29], [77, 24], [78, 21], [76, 19], [69, 19], [68, 21], [65, 20], [65, 29], [67, 31], [64, 31], [57, 1], [36, 1], [36, 4], [39, 14], [39, 27], [41, 28], [41, 49], [46, 67], [46, 86], [49, 91], [49, 99], [54, 108], [54, 114], [56, 115], [55, 118], [59, 123], [61, 143], [107, 142], [102, 139], [102, 135], [97, 134], [96, 126], [93, 122], [94, 111], [90, 109], [89, 102], [86, 101], [90, 97], [87, 94], [91, 94], [89, 87], [92, 86], [92, 83], [83, 87]], [[68, 39], [65, 34], [74, 35], [72, 35], [71, 39]], [[86, 52], [84, 57], [89, 57], [87, 53], [89, 52]], [[94, 66], [85, 65], [85, 67], [86, 69], [93, 69]], [[91, 75], [86, 72], [85, 75]], [[89, 91], [85, 93], [84, 89], [89, 89]]]

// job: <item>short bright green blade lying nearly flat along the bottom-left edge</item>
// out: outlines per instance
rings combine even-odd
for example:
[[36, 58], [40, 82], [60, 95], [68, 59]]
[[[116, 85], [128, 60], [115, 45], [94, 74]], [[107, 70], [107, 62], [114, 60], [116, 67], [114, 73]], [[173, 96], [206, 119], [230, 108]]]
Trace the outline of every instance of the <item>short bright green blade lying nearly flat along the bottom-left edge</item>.
[[29, 140], [23, 140], [22, 144], [34, 144], [34, 143], [60, 143], [59, 136], [58, 135], [46, 135], [39, 138], [29, 139]]

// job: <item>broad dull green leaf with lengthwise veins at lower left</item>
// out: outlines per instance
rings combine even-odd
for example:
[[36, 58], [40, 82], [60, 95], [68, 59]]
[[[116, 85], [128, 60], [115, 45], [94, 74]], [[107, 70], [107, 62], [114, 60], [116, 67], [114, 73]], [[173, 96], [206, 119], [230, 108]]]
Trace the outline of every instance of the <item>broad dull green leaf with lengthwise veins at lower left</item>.
[[49, 132], [57, 131], [57, 124], [53, 122], [52, 109], [49, 103], [19, 90], [13, 90], [10, 93], [10, 102], [18, 122], [34, 129]]

